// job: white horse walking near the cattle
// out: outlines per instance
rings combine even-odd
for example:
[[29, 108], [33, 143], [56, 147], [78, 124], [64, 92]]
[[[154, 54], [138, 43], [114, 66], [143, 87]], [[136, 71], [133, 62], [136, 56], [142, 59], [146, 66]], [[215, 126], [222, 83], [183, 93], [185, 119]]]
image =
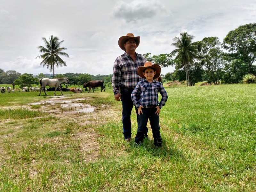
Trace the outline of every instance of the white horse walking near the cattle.
[[57, 88], [59, 88], [60, 92], [61, 92], [61, 95], [63, 95], [61, 89], [60, 89], [60, 84], [62, 82], [66, 82], [69, 84], [69, 81], [68, 81], [68, 78], [67, 77], [61, 77], [61, 78], [56, 78], [56, 79], [48, 79], [48, 78], [43, 78], [43, 79], [39, 79], [39, 82], [40, 82], [40, 92], [39, 92], [39, 96], [41, 94], [41, 90], [44, 89], [44, 93], [45, 95], [46, 92], [45, 92], [45, 86], [48, 85], [49, 87], [55, 87], [55, 91], [54, 91], [54, 95], [56, 95], [56, 90]]

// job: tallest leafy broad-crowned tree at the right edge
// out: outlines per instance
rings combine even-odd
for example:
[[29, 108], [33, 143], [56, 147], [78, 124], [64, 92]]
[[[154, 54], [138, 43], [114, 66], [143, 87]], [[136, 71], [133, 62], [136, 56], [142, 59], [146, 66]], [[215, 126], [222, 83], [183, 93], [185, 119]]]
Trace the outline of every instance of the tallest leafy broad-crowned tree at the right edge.
[[252, 64], [256, 61], [256, 23], [229, 31], [223, 40], [223, 47], [230, 52], [230, 57], [246, 63], [251, 72]]

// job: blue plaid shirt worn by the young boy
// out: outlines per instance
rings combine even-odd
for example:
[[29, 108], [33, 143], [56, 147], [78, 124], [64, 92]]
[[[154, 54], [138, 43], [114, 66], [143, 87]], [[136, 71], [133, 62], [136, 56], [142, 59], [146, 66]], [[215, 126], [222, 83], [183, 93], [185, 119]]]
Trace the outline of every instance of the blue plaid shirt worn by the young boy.
[[[160, 103], [158, 102], [158, 92], [162, 95]], [[137, 98], [139, 94], [140, 100]], [[159, 108], [162, 108], [168, 99], [164, 86], [155, 79], [152, 83], [149, 83], [146, 79], [140, 81], [132, 91], [131, 97], [136, 108], [139, 108], [141, 105], [143, 107], [147, 105], [158, 105]]]

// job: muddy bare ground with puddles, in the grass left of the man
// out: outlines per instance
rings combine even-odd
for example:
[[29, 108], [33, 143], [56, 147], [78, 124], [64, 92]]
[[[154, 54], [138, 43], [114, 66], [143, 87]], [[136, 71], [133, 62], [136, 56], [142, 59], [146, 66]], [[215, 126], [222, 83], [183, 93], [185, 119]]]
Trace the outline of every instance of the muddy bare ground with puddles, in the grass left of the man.
[[[41, 105], [41, 108], [32, 109], [48, 112], [51, 116], [63, 118], [80, 125], [95, 125], [106, 123], [109, 119], [115, 118], [115, 112], [111, 106], [90, 106], [88, 104], [79, 103], [80, 100], [89, 98], [69, 99], [65, 96], [58, 98], [50, 98], [44, 101], [29, 103], [28, 108], [33, 105]], [[78, 132], [72, 136], [79, 140], [80, 151], [84, 156], [84, 161], [96, 161], [100, 157], [99, 143], [97, 138], [100, 137], [92, 126]]]

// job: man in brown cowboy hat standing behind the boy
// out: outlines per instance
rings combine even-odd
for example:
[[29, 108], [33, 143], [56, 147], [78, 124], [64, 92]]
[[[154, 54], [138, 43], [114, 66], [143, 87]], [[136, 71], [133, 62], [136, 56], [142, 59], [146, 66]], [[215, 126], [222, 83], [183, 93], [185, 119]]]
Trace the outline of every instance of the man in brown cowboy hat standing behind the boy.
[[[137, 69], [140, 66], [144, 66], [146, 62], [143, 55], [135, 52], [139, 44], [140, 36], [135, 37], [132, 33], [121, 36], [118, 40], [118, 45], [125, 52], [123, 55], [116, 58], [113, 67], [112, 87], [115, 100], [122, 101], [123, 134], [124, 140], [127, 142], [130, 142], [132, 136], [131, 112], [133, 102], [131, 94], [137, 83], [143, 80], [143, 78], [137, 74]], [[135, 110], [138, 120], [138, 109], [135, 107]], [[148, 128], [144, 134], [145, 138], [148, 138], [147, 133]]]

